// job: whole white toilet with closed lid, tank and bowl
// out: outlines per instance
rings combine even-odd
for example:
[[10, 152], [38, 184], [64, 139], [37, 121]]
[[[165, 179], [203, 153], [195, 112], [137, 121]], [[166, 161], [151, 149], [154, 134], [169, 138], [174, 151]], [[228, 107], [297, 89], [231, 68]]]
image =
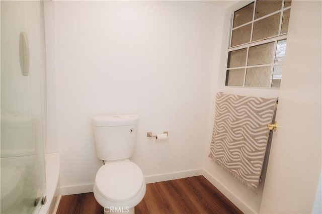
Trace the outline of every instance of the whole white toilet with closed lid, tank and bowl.
[[104, 213], [134, 213], [144, 197], [141, 169], [129, 160], [137, 133], [138, 115], [92, 117], [97, 157], [103, 161], [94, 183], [94, 196]]

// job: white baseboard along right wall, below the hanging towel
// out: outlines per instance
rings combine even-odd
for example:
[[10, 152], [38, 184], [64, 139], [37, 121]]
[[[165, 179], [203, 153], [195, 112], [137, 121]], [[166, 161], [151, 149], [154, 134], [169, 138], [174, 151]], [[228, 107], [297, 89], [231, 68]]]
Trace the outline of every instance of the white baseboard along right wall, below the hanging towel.
[[225, 185], [213, 177], [207, 170], [203, 169], [202, 174], [213, 186], [224, 194], [233, 204], [235, 204], [244, 213], [256, 213], [252, 208], [245, 204], [243, 200], [231, 192]]

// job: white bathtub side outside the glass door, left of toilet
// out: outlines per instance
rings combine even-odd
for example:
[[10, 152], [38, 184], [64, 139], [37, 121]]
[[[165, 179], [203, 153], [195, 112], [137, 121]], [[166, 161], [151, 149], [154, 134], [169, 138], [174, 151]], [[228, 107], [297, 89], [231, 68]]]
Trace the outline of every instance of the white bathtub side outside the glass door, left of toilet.
[[46, 165], [46, 196], [47, 202], [42, 205], [39, 213], [53, 214], [56, 213], [59, 200], [59, 153], [46, 153], [45, 154]]

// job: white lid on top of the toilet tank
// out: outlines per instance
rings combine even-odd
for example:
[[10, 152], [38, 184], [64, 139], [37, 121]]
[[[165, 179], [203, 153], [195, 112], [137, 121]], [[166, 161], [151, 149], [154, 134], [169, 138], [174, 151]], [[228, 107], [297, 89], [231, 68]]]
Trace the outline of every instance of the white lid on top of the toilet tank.
[[138, 115], [100, 115], [93, 116], [94, 126], [126, 126], [135, 125], [139, 119]]

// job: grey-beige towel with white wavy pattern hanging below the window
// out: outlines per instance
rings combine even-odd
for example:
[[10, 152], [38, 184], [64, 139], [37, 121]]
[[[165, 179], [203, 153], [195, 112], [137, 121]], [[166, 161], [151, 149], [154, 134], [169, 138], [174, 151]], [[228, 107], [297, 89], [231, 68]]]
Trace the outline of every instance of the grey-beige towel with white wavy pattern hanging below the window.
[[256, 192], [275, 111], [276, 98], [216, 94], [209, 157]]

